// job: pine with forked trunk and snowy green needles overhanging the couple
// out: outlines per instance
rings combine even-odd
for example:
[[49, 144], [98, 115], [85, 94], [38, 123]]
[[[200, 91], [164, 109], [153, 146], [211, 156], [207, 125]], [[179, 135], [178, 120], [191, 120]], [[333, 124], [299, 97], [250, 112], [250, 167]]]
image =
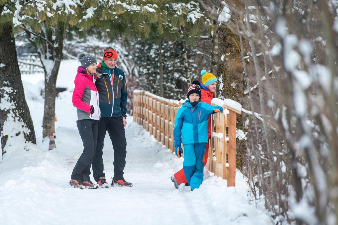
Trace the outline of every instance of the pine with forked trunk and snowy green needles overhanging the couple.
[[135, 19], [156, 22], [159, 12], [151, 4], [141, 3], [95, 0], [0, 1], [4, 8], [1, 17], [13, 21], [14, 32], [26, 32], [45, 71], [43, 137], [49, 136], [54, 130], [55, 83], [63, 58], [65, 38], [72, 38], [72, 33], [76, 32], [85, 40], [89, 34], [102, 35], [104, 31], [112, 39], [124, 32], [146, 37], [149, 28], [146, 25], [141, 28]]

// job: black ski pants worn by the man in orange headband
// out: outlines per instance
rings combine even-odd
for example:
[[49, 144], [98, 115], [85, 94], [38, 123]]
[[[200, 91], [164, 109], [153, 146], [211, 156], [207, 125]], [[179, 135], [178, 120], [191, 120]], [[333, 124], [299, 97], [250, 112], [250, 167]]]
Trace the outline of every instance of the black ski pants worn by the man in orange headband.
[[101, 117], [101, 120], [99, 121], [97, 146], [92, 162], [93, 176], [96, 182], [100, 179], [100, 177], [105, 177], [105, 173], [103, 172], [102, 149], [104, 137], [107, 131], [110, 139], [112, 140], [114, 149], [113, 178], [115, 180], [123, 179], [123, 170], [126, 165], [127, 154], [127, 140], [124, 132], [123, 118], [122, 116], [108, 118]]

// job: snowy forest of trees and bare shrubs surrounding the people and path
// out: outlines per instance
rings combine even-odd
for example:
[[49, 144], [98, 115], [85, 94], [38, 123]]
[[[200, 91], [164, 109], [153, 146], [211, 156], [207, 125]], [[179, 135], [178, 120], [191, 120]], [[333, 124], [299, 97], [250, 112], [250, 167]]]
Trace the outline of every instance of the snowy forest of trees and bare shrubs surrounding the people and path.
[[2, 161], [16, 142], [36, 144], [25, 68], [45, 76], [48, 138], [61, 61], [112, 46], [129, 114], [134, 89], [185, 99], [206, 69], [217, 97], [243, 107], [237, 169], [250, 195], [275, 224], [338, 223], [338, 1], [0, 0], [0, 13]]

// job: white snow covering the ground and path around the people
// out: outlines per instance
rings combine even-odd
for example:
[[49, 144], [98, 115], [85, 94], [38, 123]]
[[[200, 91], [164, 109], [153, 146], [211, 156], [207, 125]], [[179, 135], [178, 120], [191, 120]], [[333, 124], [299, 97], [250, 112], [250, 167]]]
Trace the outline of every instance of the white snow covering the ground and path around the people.
[[[127, 117], [124, 177], [134, 187], [72, 188], [70, 174], [83, 149], [72, 106], [77, 66], [76, 60], [61, 64], [56, 86], [68, 90], [56, 99], [57, 148], [51, 151], [48, 143], [41, 143], [43, 75], [22, 77], [38, 146], [8, 151], [0, 162], [0, 224], [272, 224], [263, 204], [247, 197], [245, 177], [239, 171], [236, 188], [226, 187], [226, 180], [206, 171], [199, 189], [175, 189], [170, 176], [182, 168], [182, 159], [131, 116]], [[111, 182], [114, 157], [108, 135], [103, 152]]]

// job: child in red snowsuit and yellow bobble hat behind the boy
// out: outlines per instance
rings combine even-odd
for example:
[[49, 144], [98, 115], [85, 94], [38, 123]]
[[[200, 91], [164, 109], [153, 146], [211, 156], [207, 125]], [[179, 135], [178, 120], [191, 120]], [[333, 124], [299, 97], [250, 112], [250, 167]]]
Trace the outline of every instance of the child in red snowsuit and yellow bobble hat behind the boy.
[[[211, 100], [215, 96], [217, 78], [215, 75], [211, 73], [207, 73], [207, 71], [204, 69], [201, 71], [201, 75], [202, 75], [202, 83], [200, 84], [201, 92], [202, 92], [201, 102], [205, 102], [211, 105]], [[211, 116], [209, 116], [209, 121], [208, 121], [208, 143], [206, 147], [207, 149], [206, 149], [206, 153], [203, 155], [204, 166], [206, 166], [207, 161], [208, 161], [210, 136], [211, 136]], [[175, 188], [178, 188], [180, 184], [187, 185], [187, 179], [186, 179], [183, 169], [176, 172], [170, 178], [172, 182], [174, 182]]]

